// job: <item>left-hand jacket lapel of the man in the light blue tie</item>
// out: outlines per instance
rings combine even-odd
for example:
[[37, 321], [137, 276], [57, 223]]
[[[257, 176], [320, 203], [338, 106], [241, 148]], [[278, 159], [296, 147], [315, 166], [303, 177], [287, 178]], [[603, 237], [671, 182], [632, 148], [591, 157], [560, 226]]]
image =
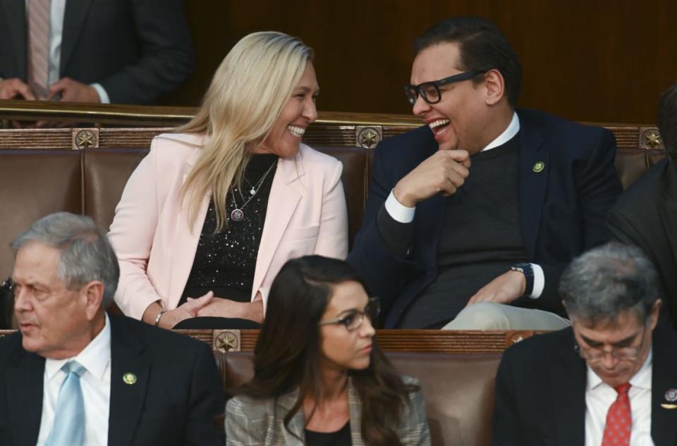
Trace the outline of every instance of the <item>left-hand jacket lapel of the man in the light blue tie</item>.
[[16, 446], [34, 446], [42, 421], [44, 358], [23, 352], [18, 364], [6, 374], [9, 419]]

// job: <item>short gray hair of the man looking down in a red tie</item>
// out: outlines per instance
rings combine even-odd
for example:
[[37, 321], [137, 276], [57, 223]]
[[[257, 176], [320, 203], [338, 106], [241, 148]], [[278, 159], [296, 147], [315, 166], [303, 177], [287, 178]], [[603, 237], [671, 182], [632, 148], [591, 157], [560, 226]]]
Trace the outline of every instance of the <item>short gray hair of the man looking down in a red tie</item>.
[[559, 284], [569, 317], [597, 324], [633, 311], [645, 320], [659, 299], [656, 270], [641, 249], [609, 242], [576, 257]]

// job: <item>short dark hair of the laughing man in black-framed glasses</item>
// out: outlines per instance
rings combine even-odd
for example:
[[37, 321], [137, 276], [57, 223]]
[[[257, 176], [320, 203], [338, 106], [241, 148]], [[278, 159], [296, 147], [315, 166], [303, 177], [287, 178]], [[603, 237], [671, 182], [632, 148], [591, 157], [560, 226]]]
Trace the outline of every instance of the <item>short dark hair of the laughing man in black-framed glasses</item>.
[[496, 23], [486, 18], [453, 17], [433, 25], [414, 41], [414, 53], [436, 44], [458, 43], [463, 71], [499, 70], [506, 82], [506, 97], [516, 106], [522, 89], [522, 65], [513, 46]]

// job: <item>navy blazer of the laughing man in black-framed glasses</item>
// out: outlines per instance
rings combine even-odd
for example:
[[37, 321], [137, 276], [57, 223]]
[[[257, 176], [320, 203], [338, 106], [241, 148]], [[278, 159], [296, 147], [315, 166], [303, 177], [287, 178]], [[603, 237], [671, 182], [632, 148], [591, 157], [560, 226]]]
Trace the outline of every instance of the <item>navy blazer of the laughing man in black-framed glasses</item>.
[[[614, 169], [616, 140], [602, 128], [538, 111], [517, 113], [520, 228], [527, 259], [543, 268], [545, 289], [539, 299], [522, 297], [516, 304], [564, 314], [557, 296], [561, 271], [574, 256], [608, 238], [604, 216], [622, 190]], [[437, 277], [437, 244], [447, 199], [437, 195], [417, 204], [413, 242], [405, 258], [384, 246], [377, 214], [398, 180], [437, 149], [425, 126], [384, 140], [374, 154], [365, 217], [348, 262], [389, 309], [386, 328], [396, 326], [408, 304]], [[538, 161], [545, 168], [535, 173]]]

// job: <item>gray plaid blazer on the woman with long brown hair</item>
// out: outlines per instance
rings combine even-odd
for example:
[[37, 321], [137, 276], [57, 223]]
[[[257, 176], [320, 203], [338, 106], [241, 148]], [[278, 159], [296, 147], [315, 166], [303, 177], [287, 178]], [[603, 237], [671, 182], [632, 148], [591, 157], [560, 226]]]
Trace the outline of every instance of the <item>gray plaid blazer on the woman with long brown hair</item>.
[[[403, 377], [405, 383], [418, 384], [413, 378]], [[233, 397], [226, 404], [226, 445], [227, 446], [302, 446], [305, 444], [303, 409], [289, 422], [292, 435], [283, 425], [284, 416], [298, 399], [298, 390], [274, 399], [252, 399]], [[353, 446], [364, 446], [360, 426], [362, 404], [360, 396], [348, 381], [348, 410], [350, 411], [350, 438]], [[410, 395], [405, 407], [398, 436], [404, 446], [429, 446], [430, 432], [425, 415], [421, 392]]]

